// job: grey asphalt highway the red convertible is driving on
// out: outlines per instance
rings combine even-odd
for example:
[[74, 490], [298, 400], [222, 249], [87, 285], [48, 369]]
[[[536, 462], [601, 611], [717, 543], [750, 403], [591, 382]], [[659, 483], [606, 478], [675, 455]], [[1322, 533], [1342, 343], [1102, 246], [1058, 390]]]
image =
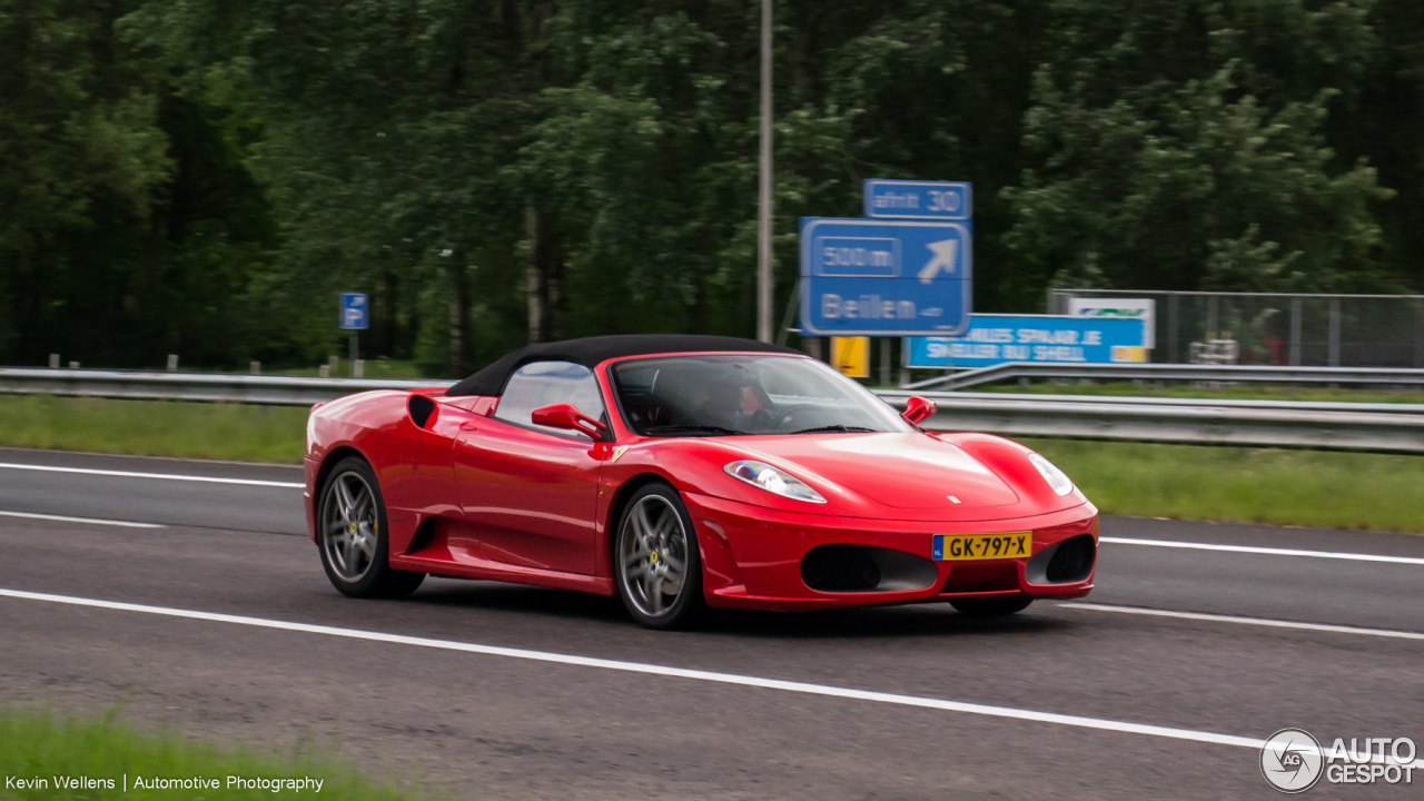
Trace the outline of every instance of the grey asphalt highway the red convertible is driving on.
[[[315, 741], [375, 775], [500, 800], [1274, 798], [1259, 751], [1223, 743], [1302, 727], [1424, 744], [1421, 536], [1105, 519], [1092, 606], [991, 623], [947, 606], [723, 613], [654, 633], [614, 600], [484, 582], [345, 599], [292, 536], [299, 482], [0, 449], [0, 590], [57, 596], [0, 596], [0, 698], [122, 700], [142, 725]], [[333, 629], [273, 627], [288, 623]], [[1417, 774], [1310, 795], [1418, 797]]]

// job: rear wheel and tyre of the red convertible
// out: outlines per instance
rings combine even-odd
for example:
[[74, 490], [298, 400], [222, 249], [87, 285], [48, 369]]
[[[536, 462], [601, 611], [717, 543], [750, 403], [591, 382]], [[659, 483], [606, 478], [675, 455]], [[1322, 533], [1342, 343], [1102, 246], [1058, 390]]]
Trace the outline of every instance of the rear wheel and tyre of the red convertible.
[[399, 599], [416, 591], [426, 574], [392, 570], [386, 499], [365, 459], [337, 462], [318, 497], [316, 544], [333, 587], [353, 599]]

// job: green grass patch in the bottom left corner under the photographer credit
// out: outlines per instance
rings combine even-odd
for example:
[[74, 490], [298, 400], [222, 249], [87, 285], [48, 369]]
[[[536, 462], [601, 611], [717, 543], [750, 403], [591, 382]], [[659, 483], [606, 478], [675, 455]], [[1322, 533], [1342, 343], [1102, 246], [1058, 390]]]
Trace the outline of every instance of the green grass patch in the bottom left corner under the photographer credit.
[[[355, 768], [315, 757], [281, 758], [249, 751], [225, 753], [175, 734], [148, 734], [110, 718], [56, 720], [48, 713], [0, 713], [0, 800], [43, 798], [329, 798], [339, 801], [402, 801], [412, 792], [380, 785]], [[229, 777], [241, 777], [242, 784]], [[135, 787], [135, 778], [141, 780]], [[320, 781], [320, 791], [281, 791], [246, 784], [251, 780]], [[13, 780], [28, 785], [16, 787]], [[85, 781], [88, 780], [88, 781]], [[158, 781], [154, 781], [158, 780]], [[216, 781], [218, 787], [162, 787], [164, 780]], [[77, 782], [77, 785], [75, 785]], [[110, 788], [112, 782], [112, 788]]]

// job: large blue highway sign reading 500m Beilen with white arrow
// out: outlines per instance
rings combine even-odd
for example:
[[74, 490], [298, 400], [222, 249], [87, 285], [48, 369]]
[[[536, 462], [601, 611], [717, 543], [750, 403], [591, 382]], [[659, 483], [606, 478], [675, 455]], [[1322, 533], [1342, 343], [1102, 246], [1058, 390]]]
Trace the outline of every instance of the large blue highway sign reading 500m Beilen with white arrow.
[[958, 335], [970, 324], [973, 227], [803, 217], [802, 331], [812, 336]]

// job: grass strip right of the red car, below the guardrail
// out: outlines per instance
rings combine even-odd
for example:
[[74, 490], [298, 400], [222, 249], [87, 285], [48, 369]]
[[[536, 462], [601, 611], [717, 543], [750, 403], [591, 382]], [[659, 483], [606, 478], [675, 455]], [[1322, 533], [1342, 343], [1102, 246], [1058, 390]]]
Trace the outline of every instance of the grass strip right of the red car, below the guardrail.
[[1424, 456], [1024, 439], [1105, 515], [1424, 532]]

